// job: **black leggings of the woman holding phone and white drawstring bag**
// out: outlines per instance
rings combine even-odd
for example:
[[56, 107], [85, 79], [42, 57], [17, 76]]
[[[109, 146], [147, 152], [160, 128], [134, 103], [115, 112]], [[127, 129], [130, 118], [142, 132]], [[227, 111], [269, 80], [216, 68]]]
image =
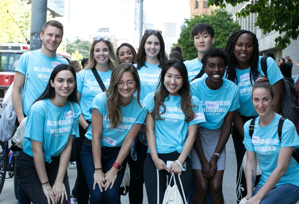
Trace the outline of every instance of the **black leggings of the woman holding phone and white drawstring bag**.
[[[178, 152], [172, 152], [168, 154], [158, 154], [159, 159], [163, 160], [166, 164], [166, 161], [174, 161], [179, 158]], [[186, 171], [183, 171], [180, 178], [182, 182], [182, 186], [184, 189], [184, 194], [187, 199], [191, 177], [192, 177], [192, 168], [191, 168], [191, 160], [190, 157], [186, 158]], [[170, 180], [171, 174], [166, 170], [159, 171], [159, 203], [162, 203], [164, 198], [164, 193], [167, 188], [166, 179], [168, 175], [168, 182]], [[182, 199], [184, 200], [181, 184], [179, 182], [178, 174], [175, 174], [176, 184], [179, 188]], [[147, 190], [147, 199], [149, 204], [157, 203], [157, 169], [154, 161], [152, 160], [152, 156], [150, 153], [147, 154], [147, 157], [144, 162], [144, 183], [145, 188]], [[171, 182], [171, 186], [173, 186], [174, 182]]]

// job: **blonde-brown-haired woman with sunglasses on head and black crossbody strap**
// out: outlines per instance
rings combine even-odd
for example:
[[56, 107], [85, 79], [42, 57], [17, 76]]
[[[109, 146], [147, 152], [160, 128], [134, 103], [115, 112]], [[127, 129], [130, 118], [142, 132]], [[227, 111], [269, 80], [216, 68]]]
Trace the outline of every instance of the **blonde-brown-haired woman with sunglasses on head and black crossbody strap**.
[[[75, 157], [77, 164], [77, 179], [71, 196], [78, 203], [88, 204], [89, 190], [84, 177], [81, 163], [81, 149], [85, 140], [85, 134], [91, 124], [91, 113], [94, 97], [105, 91], [110, 84], [112, 70], [117, 66], [117, 58], [113, 45], [108, 37], [95, 37], [90, 48], [89, 63], [85, 70], [77, 74], [78, 101], [82, 115], [79, 119], [80, 138], [74, 140]], [[96, 76], [100, 77], [98, 82]], [[103, 88], [100, 86], [102, 82]], [[99, 84], [100, 83], [100, 84]]]

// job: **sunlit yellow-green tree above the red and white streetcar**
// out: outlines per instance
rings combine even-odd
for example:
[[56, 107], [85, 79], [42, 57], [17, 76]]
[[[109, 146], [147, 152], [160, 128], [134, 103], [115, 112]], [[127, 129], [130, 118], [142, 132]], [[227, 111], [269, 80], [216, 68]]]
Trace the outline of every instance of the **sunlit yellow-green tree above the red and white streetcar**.
[[[25, 37], [30, 40], [31, 4], [28, 0], [1, 0], [0, 1], [0, 39], [1, 42], [24, 42]], [[9, 13], [7, 13], [7, 11]], [[17, 24], [13, 21], [11, 16]], [[47, 11], [47, 20], [51, 20], [50, 11]], [[22, 32], [25, 34], [22, 34]]]

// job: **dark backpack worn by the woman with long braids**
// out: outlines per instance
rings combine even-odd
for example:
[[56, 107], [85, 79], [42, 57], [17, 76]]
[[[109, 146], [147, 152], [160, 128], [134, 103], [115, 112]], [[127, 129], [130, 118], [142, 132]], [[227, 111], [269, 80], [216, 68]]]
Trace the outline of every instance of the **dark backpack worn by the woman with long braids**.
[[[261, 69], [264, 74], [267, 76], [267, 57], [264, 56], [261, 58]], [[299, 116], [299, 109], [297, 107], [297, 99], [296, 95], [297, 92], [295, 90], [294, 85], [286, 80], [286, 78], [282, 79], [283, 83], [283, 94], [282, 94], [282, 101], [281, 101], [281, 109], [280, 112], [283, 117], [289, 119], [294, 123], [297, 124], [298, 116]]]

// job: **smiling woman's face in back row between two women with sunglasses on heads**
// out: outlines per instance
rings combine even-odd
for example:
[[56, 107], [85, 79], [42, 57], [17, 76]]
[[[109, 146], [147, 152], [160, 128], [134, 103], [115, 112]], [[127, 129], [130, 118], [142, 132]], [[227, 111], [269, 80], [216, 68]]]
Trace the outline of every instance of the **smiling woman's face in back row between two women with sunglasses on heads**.
[[129, 43], [121, 44], [116, 50], [116, 57], [118, 63], [131, 63], [136, 64], [137, 53], [132, 45]]

